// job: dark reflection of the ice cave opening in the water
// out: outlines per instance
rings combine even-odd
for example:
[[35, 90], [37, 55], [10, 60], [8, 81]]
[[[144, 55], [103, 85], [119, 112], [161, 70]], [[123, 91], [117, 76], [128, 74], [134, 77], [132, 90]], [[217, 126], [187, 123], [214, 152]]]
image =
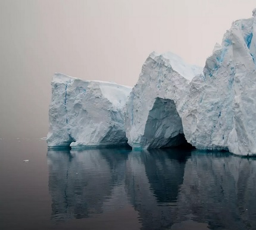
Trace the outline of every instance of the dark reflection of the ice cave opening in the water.
[[179, 186], [183, 182], [185, 164], [191, 151], [178, 149], [152, 149], [149, 156], [142, 154], [149, 184], [157, 197], [158, 203], [171, 203], [177, 200]]

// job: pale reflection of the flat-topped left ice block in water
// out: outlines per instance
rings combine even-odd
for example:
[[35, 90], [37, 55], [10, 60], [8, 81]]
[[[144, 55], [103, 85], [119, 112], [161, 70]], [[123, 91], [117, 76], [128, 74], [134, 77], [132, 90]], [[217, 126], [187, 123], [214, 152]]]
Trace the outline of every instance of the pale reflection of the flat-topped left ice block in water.
[[127, 153], [114, 159], [111, 154], [109, 149], [48, 150], [52, 219], [86, 218], [103, 212], [104, 201], [125, 172]]

